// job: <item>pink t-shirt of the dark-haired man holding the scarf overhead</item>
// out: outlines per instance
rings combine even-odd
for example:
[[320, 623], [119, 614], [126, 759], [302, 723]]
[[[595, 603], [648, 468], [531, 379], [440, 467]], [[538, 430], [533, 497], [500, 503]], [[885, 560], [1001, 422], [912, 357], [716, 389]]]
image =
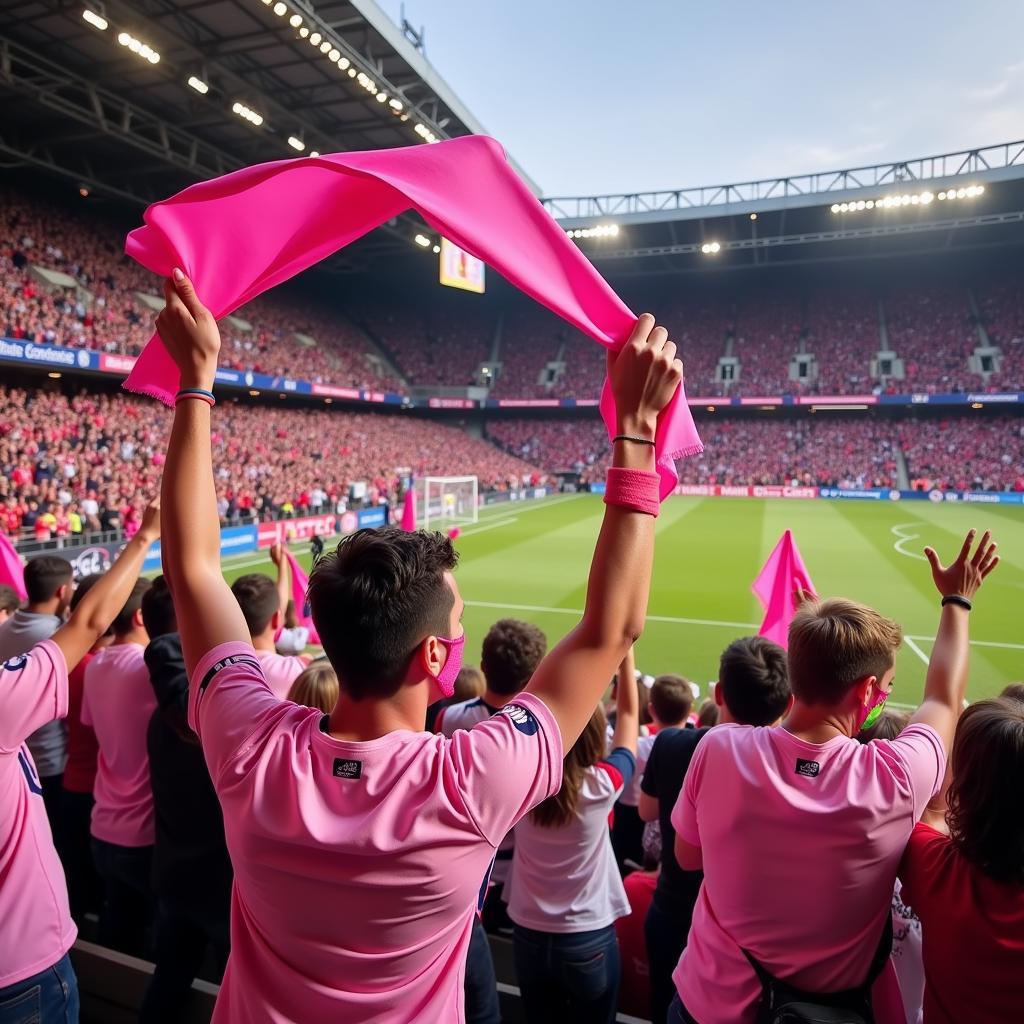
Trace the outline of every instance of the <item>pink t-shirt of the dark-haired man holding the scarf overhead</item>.
[[342, 742], [326, 721], [276, 698], [249, 644], [191, 677], [234, 865], [214, 1021], [460, 1021], [481, 880], [561, 784], [557, 725], [525, 694], [451, 739]]

